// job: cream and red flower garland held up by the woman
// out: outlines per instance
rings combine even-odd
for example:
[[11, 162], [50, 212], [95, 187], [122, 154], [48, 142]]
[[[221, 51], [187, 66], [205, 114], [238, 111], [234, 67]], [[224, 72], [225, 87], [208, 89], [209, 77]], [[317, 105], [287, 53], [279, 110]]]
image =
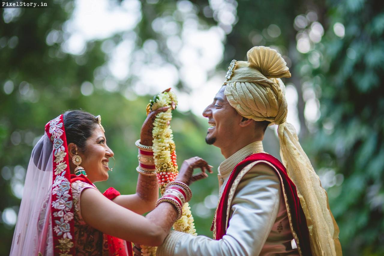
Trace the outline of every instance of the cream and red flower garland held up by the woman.
[[[173, 91], [163, 92], [154, 96], [153, 100], [147, 105], [147, 115], [163, 106], [177, 105], [177, 97]], [[153, 136], [153, 155], [156, 166], [156, 176], [159, 182], [161, 194], [165, 192], [165, 187], [174, 181], [179, 173], [176, 163], [176, 147], [173, 141], [172, 130], [168, 123], [172, 120], [172, 108], [156, 115]], [[194, 218], [188, 203], [183, 206], [182, 217], [175, 222], [173, 229], [176, 231], [197, 236]], [[156, 255], [156, 247], [142, 246], [143, 255]]]

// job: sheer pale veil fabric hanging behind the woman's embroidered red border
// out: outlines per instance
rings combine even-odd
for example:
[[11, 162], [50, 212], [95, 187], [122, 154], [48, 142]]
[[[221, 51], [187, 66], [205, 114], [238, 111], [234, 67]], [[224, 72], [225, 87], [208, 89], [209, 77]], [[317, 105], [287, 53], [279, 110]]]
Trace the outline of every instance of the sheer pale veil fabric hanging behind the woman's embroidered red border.
[[22, 202], [13, 234], [11, 256], [38, 255], [39, 252], [43, 255], [53, 255], [52, 151], [53, 144], [44, 133], [33, 148], [28, 164]]

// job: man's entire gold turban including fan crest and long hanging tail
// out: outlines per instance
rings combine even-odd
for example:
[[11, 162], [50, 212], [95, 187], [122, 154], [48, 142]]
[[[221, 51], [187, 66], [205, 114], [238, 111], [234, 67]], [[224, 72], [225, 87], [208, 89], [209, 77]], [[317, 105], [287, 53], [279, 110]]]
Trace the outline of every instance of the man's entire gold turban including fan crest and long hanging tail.
[[235, 63], [232, 76], [229, 71], [224, 94], [240, 115], [278, 125], [281, 160], [296, 185], [312, 254], [341, 255], [339, 228], [329, 209], [327, 193], [301, 148], [295, 128], [286, 122], [285, 85], [280, 79], [291, 76], [286, 62], [276, 50], [262, 46], [249, 50], [247, 58], [247, 62]]

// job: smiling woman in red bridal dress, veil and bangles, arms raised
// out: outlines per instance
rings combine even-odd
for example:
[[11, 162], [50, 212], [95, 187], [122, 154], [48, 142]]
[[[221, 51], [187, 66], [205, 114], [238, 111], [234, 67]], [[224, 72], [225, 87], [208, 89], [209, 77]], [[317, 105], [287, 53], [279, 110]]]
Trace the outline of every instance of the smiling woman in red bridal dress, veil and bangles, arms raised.
[[[157, 200], [152, 123], [168, 108], [144, 121], [142, 144], [136, 143], [139, 177], [131, 195], [114, 188], [102, 194], [93, 185], [108, 179], [114, 155], [100, 116], [73, 110], [48, 122], [32, 150], [10, 255], [132, 255], [131, 242], [160, 245], [192, 195], [190, 182], [211, 172], [199, 157], [185, 160]], [[194, 168], [202, 173], [192, 175]], [[146, 217], [140, 215], [147, 211]]]

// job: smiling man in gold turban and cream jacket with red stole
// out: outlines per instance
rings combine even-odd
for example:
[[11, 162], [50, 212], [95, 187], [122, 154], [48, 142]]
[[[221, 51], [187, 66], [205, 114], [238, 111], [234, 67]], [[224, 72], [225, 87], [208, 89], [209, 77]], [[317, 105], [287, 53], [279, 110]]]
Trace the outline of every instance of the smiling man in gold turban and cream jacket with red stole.
[[[290, 76], [286, 63], [268, 47], [253, 47], [247, 57], [231, 62], [203, 112], [211, 126], [205, 140], [226, 158], [218, 168], [214, 239], [171, 231], [157, 255], [341, 255], [325, 191], [285, 120], [284, 84], [276, 78]], [[279, 125], [281, 155], [297, 189], [280, 161], [263, 151], [270, 124]]]

